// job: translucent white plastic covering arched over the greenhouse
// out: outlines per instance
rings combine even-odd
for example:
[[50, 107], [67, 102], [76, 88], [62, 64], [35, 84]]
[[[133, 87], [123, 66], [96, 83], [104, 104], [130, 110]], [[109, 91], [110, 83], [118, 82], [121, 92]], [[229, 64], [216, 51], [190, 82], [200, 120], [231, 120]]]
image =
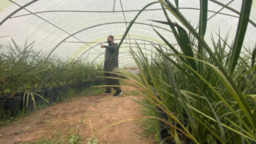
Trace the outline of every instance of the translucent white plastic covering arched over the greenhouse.
[[[108, 35], [114, 35], [119, 43], [130, 22], [138, 12], [153, 0], [1, 0], [0, 1], [0, 44], [1, 51], [7, 50], [11, 39], [18, 45], [25, 41], [35, 41], [35, 51], [57, 54], [61, 58], [86, 58], [89, 62], [104, 60], [104, 48]], [[174, 3], [174, 1], [171, 1]], [[224, 7], [223, 7], [224, 5]], [[211, 35], [221, 33], [228, 36], [231, 45], [236, 36], [241, 0], [209, 1], [205, 41]], [[200, 18], [200, 1], [179, 1], [179, 10], [194, 28]], [[168, 13], [172, 22], [182, 24]], [[154, 50], [151, 43], [165, 46], [154, 32], [159, 31], [171, 43], [174, 35], [167, 25], [150, 20], [167, 22], [160, 3], [146, 8], [131, 27], [119, 50], [119, 67], [133, 67], [135, 63], [129, 53], [136, 49], [136, 43], [144, 47], [146, 53]], [[253, 48], [256, 42], [256, 2], [253, 1], [250, 20], [244, 39], [245, 48]], [[154, 28], [154, 29], [153, 29]], [[229, 34], [228, 34], [229, 33]], [[244, 54], [245, 51], [242, 50]]]

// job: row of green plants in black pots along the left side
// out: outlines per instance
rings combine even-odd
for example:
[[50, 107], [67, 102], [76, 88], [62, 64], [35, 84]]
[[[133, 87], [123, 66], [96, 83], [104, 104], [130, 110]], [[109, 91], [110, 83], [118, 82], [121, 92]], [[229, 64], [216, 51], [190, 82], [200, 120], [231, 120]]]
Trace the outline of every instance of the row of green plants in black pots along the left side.
[[7, 49], [0, 52], [0, 109], [3, 111], [1, 103], [5, 103], [5, 111], [12, 116], [24, 107], [32, 111], [37, 103], [62, 101], [68, 88], [79, 91], [98, 81], [100, 66], [83, 60], [48, 57], [35, 52], [33, 43], [21, 48], [12, 41]]

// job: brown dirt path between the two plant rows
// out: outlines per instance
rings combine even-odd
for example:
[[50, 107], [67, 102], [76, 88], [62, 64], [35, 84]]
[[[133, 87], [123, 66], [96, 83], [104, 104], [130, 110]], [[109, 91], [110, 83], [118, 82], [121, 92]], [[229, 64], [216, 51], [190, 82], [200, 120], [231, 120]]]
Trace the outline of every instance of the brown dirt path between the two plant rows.
[[125, 86], [118, 98], [103, 94], [83, 96], [37, 110], [19, 118], [18, 122], [1, 126], [0, 143], [33, 143], [36, 140], [38, 143], [61, 143], [69, 139], [64, 142], [68, 143], [70, 139], [77, 139], [77, 135], [78, 143], [87, 143], [89, 138], [98, 143], [156, 143], [154, 134], [148, 139], [138, 134], [141, 128], [136, 122], [123, 122], [97, 133], [120, 120], [142, 117], [139, 111], [142, 106], [131, 100], [140, 101], [142, 96], [128, 95], [135, 89]]

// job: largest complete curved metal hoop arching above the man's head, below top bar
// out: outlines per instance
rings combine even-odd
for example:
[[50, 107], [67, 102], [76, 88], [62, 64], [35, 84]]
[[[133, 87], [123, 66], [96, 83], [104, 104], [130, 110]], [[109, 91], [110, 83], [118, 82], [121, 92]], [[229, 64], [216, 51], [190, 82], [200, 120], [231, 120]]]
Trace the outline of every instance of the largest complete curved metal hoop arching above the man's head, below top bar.
[[[66, 39], [68, 39], [68, 38], [70, 38], [70, 37], [74, 37], [75, 34], [81, 33], [81, 31], [85, 31], [85, 30], [91, 29], [91, 28], [93, 28], [93, 27], [104, 26], [104, 25], [108, 25], [108, 24], [123, 24], [123, 23], [125, 23], [125, 22], [110, 22], [110, 23], [98, 24], [98, 25], [95, 25], [95, 26], [87, 27], [87, 28], [85, 28], [85, 29], [81, 29], [80, 31], [77, 31], [77, 32], [71, 34], [70, 36], [66, 37], [66, 38], [63, 39], [62, 41], [60, 41], [60, 43], [58, 43], [58, 45], [56, 45], [56, 46], [53, 48], [53, 50], [49, 53], [48, 57], [51, 56], [51, 54], [53, 53], [53, 51], [54, 51], [60, 44], [62, 44], [64, 41], [66, 41]], [[127, 22], [127, 23], [130, 23], [130, 22]], [[158, 28], [160, 28], [160, 29], [163, 29], [163, 30], [166, 30], [166, 31], [169, 31], [169, 32], [172, 33], [172, 31], [170, 31], [170, 30], [168, 30], [168, 29], [165, 29], [165, 28], [159, 27], [159, 26], [154, 26], [154, 25], [152, 25], [152, 24], [144, 24], [144, 23], [140, 23], [140, 22], [135, 22], [134, 24], [142, 24], [142, 25], [145, 25], [145, 26], [158, 27]], [[88, 45], [87, 45], [87, 46], [88, 46]]]

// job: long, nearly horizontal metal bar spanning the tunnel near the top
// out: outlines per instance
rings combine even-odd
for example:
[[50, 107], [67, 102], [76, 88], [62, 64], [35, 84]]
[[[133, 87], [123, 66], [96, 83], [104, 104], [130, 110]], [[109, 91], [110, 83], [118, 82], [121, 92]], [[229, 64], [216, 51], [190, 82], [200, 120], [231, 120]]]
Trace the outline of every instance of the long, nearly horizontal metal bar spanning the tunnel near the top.
[[[38, 0], [37, 0], [38, 1]], [[179, 9], [193, 9], [193, 10], [200, 10], [198, 8], [189, 8], [189, 7], [181, 7]], [[144, 11], [152, 11], [152, 10], [163, 10], [163, 9], [146, 9]], [[116, 10], [116, 11], [90, 11], [90, 10], [46, 10], [46, 11], [41, 11], [41, 12], [33, 12], [34, 14], [39, 14], [39, 13], [47, 13], [47, 12], [92, 12], [92, 13], [114, 13], [114, 12], [139, 12], [140, 10]], [[208, 10], [208, 12], [214, 12], [217, 14], [223, 14], [226, 16], [232, 16], [232, 17], [236, 17], [239, 18], [239, 16], [234, 16], [232, 14], [225, 14], [223, 12], [216, 12], [213, 10]], [[17, 18], [20, 16], [28, 16], [31, 14], [20, 14], [18, 16], [11, 16], [11, 18]]]

